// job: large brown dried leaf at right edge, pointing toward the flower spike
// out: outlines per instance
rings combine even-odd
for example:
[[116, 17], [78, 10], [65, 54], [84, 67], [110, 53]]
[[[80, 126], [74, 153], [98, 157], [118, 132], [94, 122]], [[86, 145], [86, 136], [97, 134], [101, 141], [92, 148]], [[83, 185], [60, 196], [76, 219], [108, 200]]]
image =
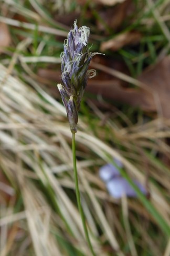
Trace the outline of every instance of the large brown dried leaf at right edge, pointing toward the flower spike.
[[[140, 106], [147, 112], [159, 111], [163, 117], [170, 118], [168, 103], [170, 102], [170, 56], [163, 61], [147, 68], [138, 78], [148, 87], [143, 88], [123, 87], [118, 78], [105, 81], [91, 80], [87, 89], [95, 94], [100, 94], [106, 99]], [[98, 78], [99, 79], [99, 78]]]

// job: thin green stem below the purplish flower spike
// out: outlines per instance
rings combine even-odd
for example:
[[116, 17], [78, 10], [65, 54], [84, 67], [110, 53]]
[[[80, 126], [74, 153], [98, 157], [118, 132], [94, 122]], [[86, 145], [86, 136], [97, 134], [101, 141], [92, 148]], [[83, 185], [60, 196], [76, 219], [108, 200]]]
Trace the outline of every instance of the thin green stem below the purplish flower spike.
[[91, 250], [91, 253], [93, 256], [95, 256], [95, 253], [93, 251], [90, 239], [89, 239], [89, 234], [88, 234], [88, 229], [86, 226], [86, 221], [83, 213], [83, 209], [81, 206], [81, 201], [80, 201], [80, 192], [79, 192], [79, 182], [78, 182], [78, 175], [77, 175], [77, 164], [76, 164], [76, 143], [75, 143], [75, 133], [72, 133], [72, 159], [73, 159], [73, 170], [74, 170], [74, 175], [75, 175], [75, 185], [76, 185], [76, 197], [77, 197], [77, 204], [78, 204], [78, 209], [81, 215], [81, 220], [83, 224], [83, 229], [84, 233], [86, 235], [86, 240], [88, 242], [89, 248]]

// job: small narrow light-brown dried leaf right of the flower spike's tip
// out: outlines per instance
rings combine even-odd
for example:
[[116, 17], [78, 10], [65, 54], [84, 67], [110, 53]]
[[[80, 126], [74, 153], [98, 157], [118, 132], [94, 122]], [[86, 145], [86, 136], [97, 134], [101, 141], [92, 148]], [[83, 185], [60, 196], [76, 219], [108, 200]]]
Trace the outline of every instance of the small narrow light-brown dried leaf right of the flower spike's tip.
[[140, 41], [141, 34], [139, 32], [125, 32], [118, 36], [115, 36], [107, 42], [101, 43], [100, 51], [104, 52], [105, 50], [117, 51], [125, 45], [136, 44]]

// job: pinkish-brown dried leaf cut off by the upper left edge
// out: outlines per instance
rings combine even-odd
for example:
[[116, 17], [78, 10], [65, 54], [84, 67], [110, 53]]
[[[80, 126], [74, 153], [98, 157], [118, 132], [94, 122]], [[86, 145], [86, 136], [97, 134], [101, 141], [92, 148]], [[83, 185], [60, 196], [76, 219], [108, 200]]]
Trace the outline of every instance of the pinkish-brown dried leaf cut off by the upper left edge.
[[9, 46], [11, 42], [8, 27], [5, 23], [0, 23], [0, 53], [4, 52], [4, 47]]

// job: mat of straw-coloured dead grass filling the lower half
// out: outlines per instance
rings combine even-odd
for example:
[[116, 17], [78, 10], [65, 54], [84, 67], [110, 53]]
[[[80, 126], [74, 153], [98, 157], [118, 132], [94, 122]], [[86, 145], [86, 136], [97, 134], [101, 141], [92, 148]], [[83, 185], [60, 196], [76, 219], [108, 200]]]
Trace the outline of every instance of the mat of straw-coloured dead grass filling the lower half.
[[[9, 75], [1, 65], [0, 160], [1, 172], [9, 180], [6, 193], [10, 196], [1, 209], [1, 255], [65, 255], [58, 237], [89, 255], [77, 206], [72, 200], [71, 191], [75, 189], [71, 133], [65, 109], [32, 78], [25, 78], [33, 87]], [[169, 146], [161, 138], [169, 136], [169, 121], [162, 120], [160, 126], [160, 120], [155, 120], [128, 129], [116, 129], [109, 121], [110, 132], [126, 149], [124, 151], [104, 142], [102, 127], [101, 137], [95, 137], [81, 118], [79, 126], [76, 134], [78, 156], [82, 159], [84, 155], [84, 159], [78, 161], [80, 190], [95, 252], [107, 255], [107, 251], [115, 250], [118, 255], [124, 255], [120, 249], [122, 240], [129, 244], [132, 255], [137, 255], [131, 233], [133, 223], [140, 230], [140, 246], [161, 255], [163, 251], [158, 245], [153, 247], [152, 238], [146, 239], [143, 223], [133, 214], [136, 212], [145, 225], [155, 223], [138, 200], [122, 200], [124, 231], [120, 223], [121, 202], [105, 191], [98, 178], [98, 165], [102, 160], [103, 163], [107, 161], [105, 153], [110, 154], [121, 160], [127, 172], [144, 185], [145, 171], [149, 171], [149, 175], [161, 184], [156, 187], [148, 182], [151, 202], [169, 223], [169, 173], [142, 151], [145, 145], [155, 152], [168, 154]], [[18, 203], [18, 200], [22, 201]], [[17, 204], [20, 205], [15, 208]], [[110, 249], [103, 247], [106, 242]], [[169, 245], [166, 250], [169, 252]], [[168, 255], [167, 252], [164, 255]]]

